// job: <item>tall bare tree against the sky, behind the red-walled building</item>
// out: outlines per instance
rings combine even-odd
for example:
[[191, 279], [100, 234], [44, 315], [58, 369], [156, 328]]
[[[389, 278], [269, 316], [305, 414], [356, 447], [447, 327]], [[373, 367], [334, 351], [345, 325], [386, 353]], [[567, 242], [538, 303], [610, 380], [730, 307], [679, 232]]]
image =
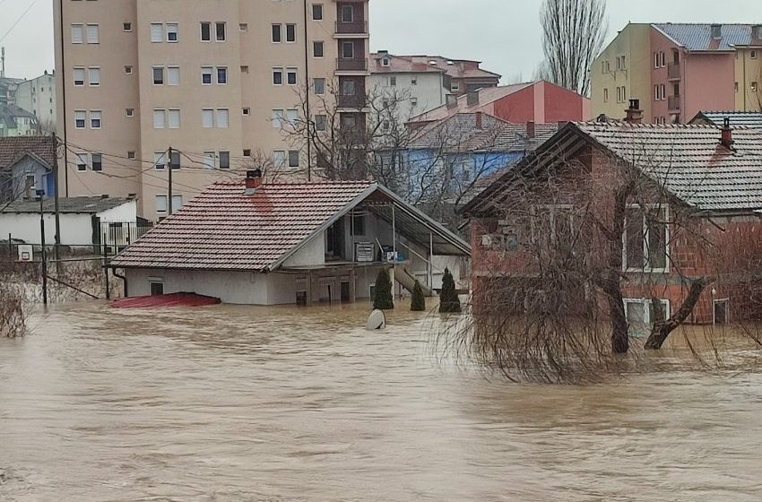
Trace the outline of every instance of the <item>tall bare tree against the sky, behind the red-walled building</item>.
[[590, 94], [590, 68], [609, 30], [605, 0], [544, 0], [541, 77]]

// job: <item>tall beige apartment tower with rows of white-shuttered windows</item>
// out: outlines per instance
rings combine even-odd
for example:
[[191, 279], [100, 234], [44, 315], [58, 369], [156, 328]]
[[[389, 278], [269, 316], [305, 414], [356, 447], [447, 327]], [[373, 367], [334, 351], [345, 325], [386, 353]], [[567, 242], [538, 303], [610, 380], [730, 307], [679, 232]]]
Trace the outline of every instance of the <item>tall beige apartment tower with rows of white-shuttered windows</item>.
[[[54, 4], [61, 193], [134, 195], [151, 220], [247, 168], [307, 177], [286, 130], [321, 121], [331, 82], [366, 89], [368, 0]], [[346, 101], [350, 125], [362, 109]]]

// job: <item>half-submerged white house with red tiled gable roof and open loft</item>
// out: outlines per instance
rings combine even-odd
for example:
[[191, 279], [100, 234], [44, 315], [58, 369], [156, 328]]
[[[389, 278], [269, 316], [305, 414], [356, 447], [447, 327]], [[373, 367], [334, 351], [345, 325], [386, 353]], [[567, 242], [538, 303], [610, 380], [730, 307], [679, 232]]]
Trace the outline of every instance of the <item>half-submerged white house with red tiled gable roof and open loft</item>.
[[[377, 273], [398, 288], [459, 276], [462, 238], [369, 181], [215, 183], [111, 262], [129, 296], [193, 292], [242, 305], [372, 298]], [[444, 267], [441, 267], [444, 268]]]

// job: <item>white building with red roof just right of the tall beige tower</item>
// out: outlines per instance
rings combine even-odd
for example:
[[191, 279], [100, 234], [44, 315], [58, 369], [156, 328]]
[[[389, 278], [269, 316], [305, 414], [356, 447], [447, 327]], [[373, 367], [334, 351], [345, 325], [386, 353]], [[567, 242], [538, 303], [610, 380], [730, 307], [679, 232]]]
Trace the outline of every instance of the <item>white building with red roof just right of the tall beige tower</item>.
[[[442, 56], [394, 56], [380, 50], [370, 55], [368, 89], [377, 96], [400, 99], [403, 119], [444, 105], [447, 94], [497, 87], [500, 75], [484, 70], [481, 62]], [[404, 102], [403, 102], [404, 101]]]

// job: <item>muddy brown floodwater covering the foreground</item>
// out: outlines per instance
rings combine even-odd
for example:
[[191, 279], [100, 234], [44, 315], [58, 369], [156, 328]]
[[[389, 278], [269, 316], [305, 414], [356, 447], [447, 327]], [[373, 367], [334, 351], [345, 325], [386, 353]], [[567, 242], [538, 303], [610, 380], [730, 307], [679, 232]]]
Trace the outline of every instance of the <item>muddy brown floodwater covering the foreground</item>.
[[0, 340], [0, 500], [762, 499], [762, 376], [489, 382], [367, 313], [36, 314]]

